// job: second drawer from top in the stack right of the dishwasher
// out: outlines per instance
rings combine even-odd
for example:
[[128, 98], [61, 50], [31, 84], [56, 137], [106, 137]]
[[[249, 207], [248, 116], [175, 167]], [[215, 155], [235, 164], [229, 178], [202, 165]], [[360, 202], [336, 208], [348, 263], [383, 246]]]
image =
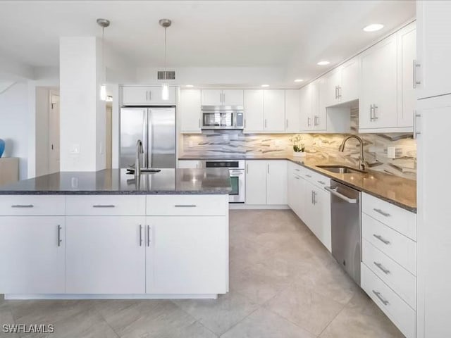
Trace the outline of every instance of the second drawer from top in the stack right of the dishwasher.
[[412, 239], [365, 213], [362, 213], [362, 237], [416, 275], [416, 243]]

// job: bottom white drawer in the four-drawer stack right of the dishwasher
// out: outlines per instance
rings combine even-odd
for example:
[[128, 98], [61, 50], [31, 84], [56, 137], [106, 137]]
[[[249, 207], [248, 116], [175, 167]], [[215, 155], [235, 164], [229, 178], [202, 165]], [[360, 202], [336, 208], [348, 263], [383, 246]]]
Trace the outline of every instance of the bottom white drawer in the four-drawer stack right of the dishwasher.
[[407, 338], [416, 337], [416, 312], [362, 263], [362, 289]]

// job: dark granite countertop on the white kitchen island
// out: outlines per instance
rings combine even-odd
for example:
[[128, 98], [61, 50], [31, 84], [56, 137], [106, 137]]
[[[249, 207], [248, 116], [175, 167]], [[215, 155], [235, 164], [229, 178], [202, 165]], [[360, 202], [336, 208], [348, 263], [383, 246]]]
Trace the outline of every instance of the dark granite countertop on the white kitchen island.
[[227, 168], [161, 169], [140, 179], [125, 169], [61, 172], [0, 186], [1, 194], [229, 194]]

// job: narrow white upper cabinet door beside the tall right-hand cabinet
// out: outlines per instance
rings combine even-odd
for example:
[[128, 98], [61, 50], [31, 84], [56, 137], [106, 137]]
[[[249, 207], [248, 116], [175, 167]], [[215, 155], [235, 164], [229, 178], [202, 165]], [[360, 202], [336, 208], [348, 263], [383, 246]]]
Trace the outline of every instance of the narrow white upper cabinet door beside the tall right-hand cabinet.
[[416, 60], [416, 23], [397, 32], [397, 127], [412, 127], [416, 108], [413, 63]]

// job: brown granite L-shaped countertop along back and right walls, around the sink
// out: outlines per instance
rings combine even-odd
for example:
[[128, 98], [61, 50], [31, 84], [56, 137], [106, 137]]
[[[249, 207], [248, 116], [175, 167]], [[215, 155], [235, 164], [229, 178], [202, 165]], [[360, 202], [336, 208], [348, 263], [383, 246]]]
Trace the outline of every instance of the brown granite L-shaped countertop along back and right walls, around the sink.
[[179, 160], [228, 160], [228, 159], [240, 159], [240, 160], [288, 160], [299, 165], [303, 165], [305, 168], [314, 170], [321, 175], [330, 177], [333, 180], [346, 184], [361, 192], [366, 192], [373, 196], [383, 199], [388, 203], [395, 204], [400, 208], [404, 208], [412, 213], [416, 213], [416, 181], [408, 180], [407, 178], [398, 177], [394, 175], [388, 175], [380, 173], [375, 170], [369, 170], [368, 173], [354, 173], [354, 174], [338, 174], [330, 173], [330, 171], [323, 170], [316, 165], [345, 165], [349, 166], [349, 163], [339, 163], [330, 161], [315, 161], [307, 158], [298, 158], [294, 156], [287, 156], [283, 154], [273, 155], [219, 155], [219, 156], [180, 156]]

